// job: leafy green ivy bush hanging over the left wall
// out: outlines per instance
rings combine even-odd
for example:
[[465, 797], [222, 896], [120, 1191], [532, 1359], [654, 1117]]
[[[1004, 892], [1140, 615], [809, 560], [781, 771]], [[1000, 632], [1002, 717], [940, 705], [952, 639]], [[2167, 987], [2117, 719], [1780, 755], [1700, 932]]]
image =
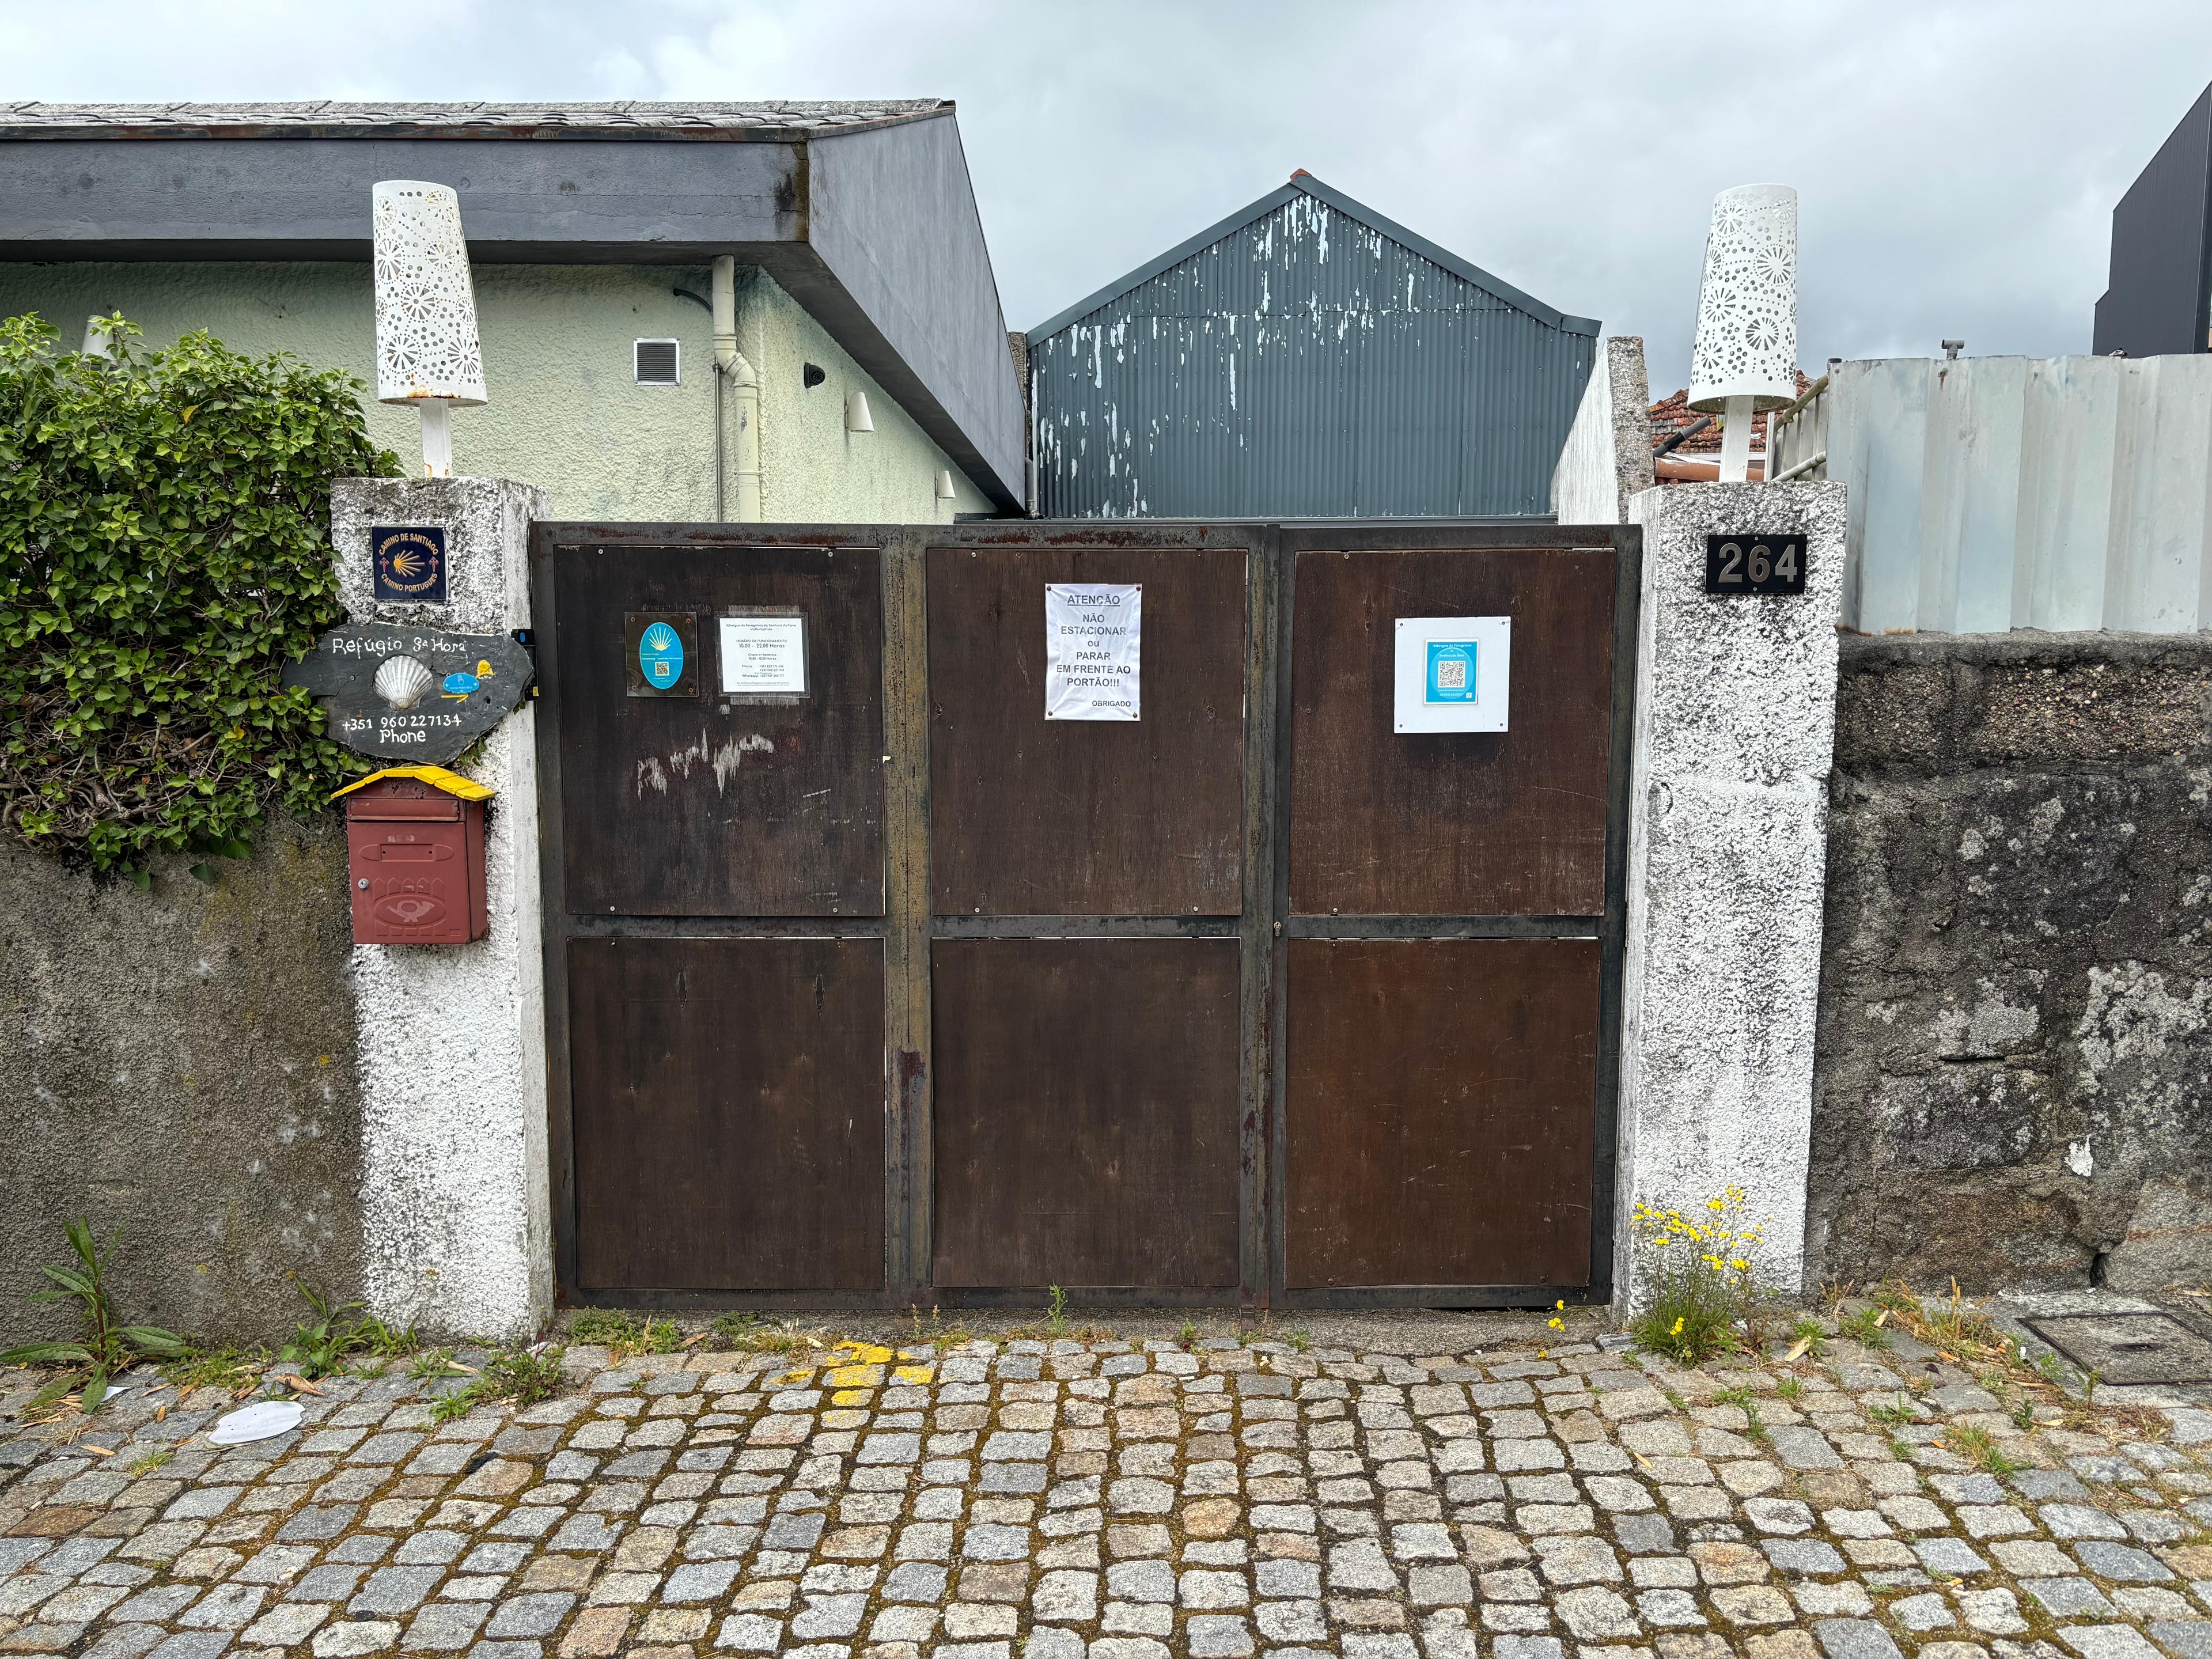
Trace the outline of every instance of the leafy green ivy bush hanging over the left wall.
[[332, 480], [398, 460], [349, 374], [104, 332], [0, 321], [0, 823], [144, 885], [367, 770], [281, 679], [345, 617]]

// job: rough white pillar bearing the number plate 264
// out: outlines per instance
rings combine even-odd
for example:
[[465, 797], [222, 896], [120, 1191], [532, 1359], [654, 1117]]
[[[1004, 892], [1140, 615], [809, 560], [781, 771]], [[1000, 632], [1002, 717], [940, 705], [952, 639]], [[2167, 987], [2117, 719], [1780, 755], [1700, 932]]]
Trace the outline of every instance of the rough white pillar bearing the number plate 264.
[[[1812, 1048], [1845, 487], [1674, 484], [1644, 526], [1628, 810], [1615, 1285], [1641, 1298], [1628, 1217], [1723, 1186], [1767, 1217], [1763, 1279], [1805, 1276]], [[1710, 533], [1803, 533], [1805, 593], [1705, 593]]]

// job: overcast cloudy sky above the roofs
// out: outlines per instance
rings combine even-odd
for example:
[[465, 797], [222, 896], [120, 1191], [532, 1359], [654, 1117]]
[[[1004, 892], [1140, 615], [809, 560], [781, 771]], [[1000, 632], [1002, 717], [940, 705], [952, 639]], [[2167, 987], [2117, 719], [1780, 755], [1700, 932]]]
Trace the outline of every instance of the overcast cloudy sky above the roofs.
[[1763, 179], [1809, 369], [2086, 352], [2112, 201], [2208, 80], [2205, 0], [0, 7], [9, 100], [956, 97], [1011, 327], [1303, 166], [1644, 334], [1655, 396], [1712, 195]]

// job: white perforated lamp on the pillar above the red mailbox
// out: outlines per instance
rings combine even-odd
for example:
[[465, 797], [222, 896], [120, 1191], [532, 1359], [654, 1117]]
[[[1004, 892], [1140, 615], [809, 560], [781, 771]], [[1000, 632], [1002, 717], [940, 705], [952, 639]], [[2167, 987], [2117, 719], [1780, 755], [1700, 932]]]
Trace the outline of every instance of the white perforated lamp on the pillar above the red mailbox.
[[385, 179], [369, 192], [376, 246], [376, 398], [422, 416], [422, 473], [453, 476], [453, 405], [478, 409], [484, 352], [476, 283], [449, 186]]

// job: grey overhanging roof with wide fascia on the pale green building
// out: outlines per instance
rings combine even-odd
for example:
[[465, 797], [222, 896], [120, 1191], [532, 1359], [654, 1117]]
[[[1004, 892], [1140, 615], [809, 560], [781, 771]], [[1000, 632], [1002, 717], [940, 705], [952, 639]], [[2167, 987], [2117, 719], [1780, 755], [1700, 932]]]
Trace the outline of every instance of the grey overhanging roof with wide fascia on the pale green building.
[[0, 104], [0, 261], [365, 261], [378, 179], [451, 184], [478, 263], [759, 265], [1022, 507], [1022, 389], [949, 97]]

